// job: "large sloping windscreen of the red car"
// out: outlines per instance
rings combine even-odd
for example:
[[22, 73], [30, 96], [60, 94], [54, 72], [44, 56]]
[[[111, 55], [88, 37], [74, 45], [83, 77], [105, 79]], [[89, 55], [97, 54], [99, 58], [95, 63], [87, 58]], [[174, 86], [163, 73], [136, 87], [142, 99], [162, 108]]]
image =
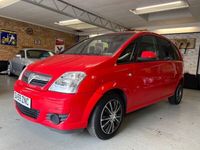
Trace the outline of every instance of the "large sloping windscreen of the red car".
[[132, 35], [131, 33], [122, 33], [89, 38], [66, 50], [64, 54], [111, 56]]

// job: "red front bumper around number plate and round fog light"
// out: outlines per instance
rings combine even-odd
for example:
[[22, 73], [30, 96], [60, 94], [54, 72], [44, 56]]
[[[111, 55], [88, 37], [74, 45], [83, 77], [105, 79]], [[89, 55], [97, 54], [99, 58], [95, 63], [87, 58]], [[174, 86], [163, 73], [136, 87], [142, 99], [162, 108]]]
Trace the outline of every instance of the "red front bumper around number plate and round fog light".
[[[23, 118], [58, 130], [77, 130], [87, 127], [87, 120], [83, 119], [83, 114], [92, 92], [62, 94], [32, 89], [22, 82], [18, 80], [14, 90], [31, 98], [31, 109], [27, 108], [28, 110], [26, 108], [23, 110], [15, 102], [16, 109]], [[29, 113], [27, 111], [35, 111], [37, 116], [27, 115]], [[49, 114], [66, 115], [67, 118], [55, 124], [49, 120]]]

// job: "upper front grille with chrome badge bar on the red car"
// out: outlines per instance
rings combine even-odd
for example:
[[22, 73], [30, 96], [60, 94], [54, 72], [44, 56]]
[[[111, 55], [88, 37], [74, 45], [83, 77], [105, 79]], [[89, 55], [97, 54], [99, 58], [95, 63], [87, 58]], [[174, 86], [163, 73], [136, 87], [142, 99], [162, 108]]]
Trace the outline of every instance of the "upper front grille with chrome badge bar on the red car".
[[24, 72], [22, 77], [22, 81], [39, 87], [44, 87], [50, 80], [51, 77], [48, 75], [29, 72], [29, 71]]

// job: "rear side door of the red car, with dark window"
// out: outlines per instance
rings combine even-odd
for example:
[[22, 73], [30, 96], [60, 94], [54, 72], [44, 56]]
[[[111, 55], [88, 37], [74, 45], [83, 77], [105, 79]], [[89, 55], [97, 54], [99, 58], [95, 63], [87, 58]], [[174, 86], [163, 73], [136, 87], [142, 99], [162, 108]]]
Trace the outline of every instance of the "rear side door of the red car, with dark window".
[[158, 57], [161, 64], [161, 74], [163, 76], [163, 94], [171, 95], [180, 80], [181, 61], [179, 54], [172, 43], [164, 38], [157, 38], [158, 41]]

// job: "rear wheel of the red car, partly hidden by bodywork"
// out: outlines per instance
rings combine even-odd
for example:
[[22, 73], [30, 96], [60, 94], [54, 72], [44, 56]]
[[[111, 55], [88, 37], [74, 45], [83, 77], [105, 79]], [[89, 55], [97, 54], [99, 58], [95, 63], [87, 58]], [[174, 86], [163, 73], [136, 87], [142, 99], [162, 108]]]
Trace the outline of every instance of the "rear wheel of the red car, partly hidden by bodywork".
[[173, 105], [178, 105], [180, 104], [182, 98], [183, 98], [183, 83], [181, 82], [176, 88], [174, 95], [169, 97], [169, 103]]

